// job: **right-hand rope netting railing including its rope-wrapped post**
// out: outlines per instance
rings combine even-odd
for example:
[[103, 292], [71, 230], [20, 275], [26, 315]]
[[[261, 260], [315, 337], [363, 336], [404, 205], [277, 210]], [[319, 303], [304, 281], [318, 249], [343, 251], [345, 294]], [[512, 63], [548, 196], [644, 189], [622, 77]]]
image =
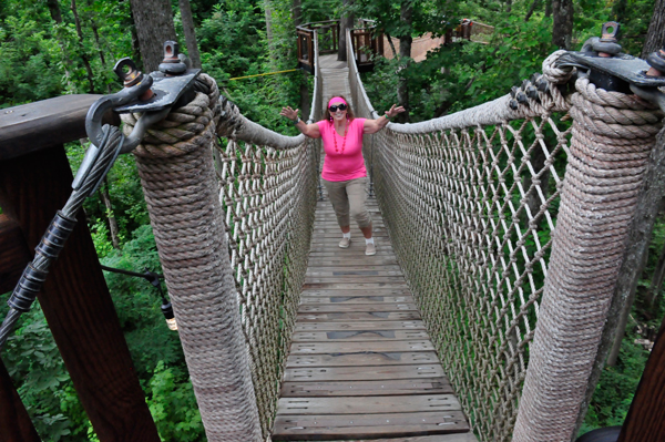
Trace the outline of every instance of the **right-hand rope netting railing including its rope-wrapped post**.
[[[357, 114], [376, 119], [351, 51]], [[365, 141], [398, 260], [482, 441], [573, 438], [659, 129], [635, 95], [569, 84], [563, 53], [519, 96]]]

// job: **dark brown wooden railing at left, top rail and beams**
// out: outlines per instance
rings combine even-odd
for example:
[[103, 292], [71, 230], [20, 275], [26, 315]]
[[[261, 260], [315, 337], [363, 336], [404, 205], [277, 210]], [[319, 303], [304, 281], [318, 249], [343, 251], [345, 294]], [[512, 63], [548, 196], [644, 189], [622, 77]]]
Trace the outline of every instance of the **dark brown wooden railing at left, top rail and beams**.
[[[55, 212], [71, 193], [63, 144], [85, 137], [101, 95], [65, 95], [0, 112], [0, 292], [11, 291]], [[106, 123], [119, 125], [117, 116]], [[96, 251], [81, 212], [38, 296], [100, 441], [160, 436], [135, 374]], [[0, 441], [39, 441], [0, 363]]]

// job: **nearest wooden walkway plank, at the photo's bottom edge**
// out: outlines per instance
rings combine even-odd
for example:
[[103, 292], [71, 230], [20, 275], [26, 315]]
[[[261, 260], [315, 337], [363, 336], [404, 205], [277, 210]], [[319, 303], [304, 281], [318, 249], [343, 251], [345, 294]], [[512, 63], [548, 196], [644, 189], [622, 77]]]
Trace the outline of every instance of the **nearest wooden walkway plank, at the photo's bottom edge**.
[[[348, 415], [309, 415], [294, 419], [277, 415], [274, 441], [326, 441], [345, 438], [412, 436], [468, 432], [469, 425], [461, 411], [421, 413], [381, 413]], [[347, 439], [348, 440], [348, 439]], [[463, 440], [462, 440], [463, 441]], [[439, 442], [446, 442], [439, 440]]]

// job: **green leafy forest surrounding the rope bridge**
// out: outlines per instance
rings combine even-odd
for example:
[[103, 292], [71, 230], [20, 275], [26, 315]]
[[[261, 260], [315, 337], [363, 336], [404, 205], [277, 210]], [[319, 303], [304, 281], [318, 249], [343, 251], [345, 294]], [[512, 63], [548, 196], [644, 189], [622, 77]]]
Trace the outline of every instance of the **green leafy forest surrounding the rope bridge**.
[[[648, 40], [648, 31], [652, 18], [658, 19], [662, 35], [665, 16], [665, 0], [146, 1], [170, 9], [184, 52], [187, 27], [193, 24], [204, 72], [215, 78], [244, 115], [286, 134], [295, 130], [278, 111], [287, 104], [307, 105], [310, 76], [295, 71], [232, 79], [294, 69], [298, 23], [342, 14], [375, 19], [383, 32], [400, 39], [398, 56], [377, 59], [364, 81], [375, 107], [402, 103], [409, 111], [405, 117], [413, 122], [503, 95], [539, 72], [542, 60], [557, 47], [579, 49], [586, 38], [598, 35], [607, 20], [622, 23], [624, 51], [644, 56], [663, 44], [662, 37]], [[405, 49], [410, 39], [426, 32], [443, 34], [461, 18], [495, 31], [483, 44], [461, 42], [431, 51], [420, 63], [410, 59]], [[117, 91], [121, 84], [112, 66], [123, 56], [144, 62], [130, 0], [0, 2], [0, 109], [62, 94]], [[82, 140], [66, 146], [73, 169], [86, 145]], [[102, 264], [161, 271], [132, 157], [119, 158], [84, 208]], [[648, 357], [636, 340], [653, 339], [665, 315], [664, 245], [661, 217], [625, 336], [603, 370], [582, 432], [621, 424], [626, 415]], [[162, 439], [204, 441], [177, 333], [166, 328], [155, 289], [142, 279], [105, 276]], [[8, 295], [0, 295], [0, 317], [7, 312]], [[44, 441], [96, 440], [39, 306], [23, 315], [2, 360]]]

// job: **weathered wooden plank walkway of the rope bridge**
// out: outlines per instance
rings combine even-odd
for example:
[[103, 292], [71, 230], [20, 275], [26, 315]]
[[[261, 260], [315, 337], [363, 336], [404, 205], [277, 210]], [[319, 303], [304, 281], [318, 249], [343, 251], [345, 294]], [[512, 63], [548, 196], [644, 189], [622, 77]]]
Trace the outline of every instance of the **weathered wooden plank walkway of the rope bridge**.
[[[324, 85], [326, 71], [336, 74], [326, 96], [350, 99], [348, 82], [335, 66], [324, 70]], [[330, 203], [326, 198], [317, 205], [273, 441], [477, 442], [424, 330], [376, 199], [368, 199], [368, 207], [375, 256], [365, 255], [355, 226], [351, 246], [339, 248], [341, 233]]]

